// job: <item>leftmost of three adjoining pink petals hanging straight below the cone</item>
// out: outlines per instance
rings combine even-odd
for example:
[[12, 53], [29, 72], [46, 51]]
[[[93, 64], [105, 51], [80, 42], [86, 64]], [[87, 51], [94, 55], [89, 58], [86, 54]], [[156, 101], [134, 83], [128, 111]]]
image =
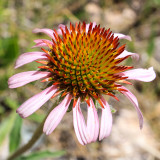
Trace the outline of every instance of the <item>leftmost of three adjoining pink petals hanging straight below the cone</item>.
[[80, 108], [80, 98], [78, 99], [75, 107], [73, 108], [73, 125], [79, 142], [82, 145], [89, 143], [89, 135], [87, 134], [85, 120]]

